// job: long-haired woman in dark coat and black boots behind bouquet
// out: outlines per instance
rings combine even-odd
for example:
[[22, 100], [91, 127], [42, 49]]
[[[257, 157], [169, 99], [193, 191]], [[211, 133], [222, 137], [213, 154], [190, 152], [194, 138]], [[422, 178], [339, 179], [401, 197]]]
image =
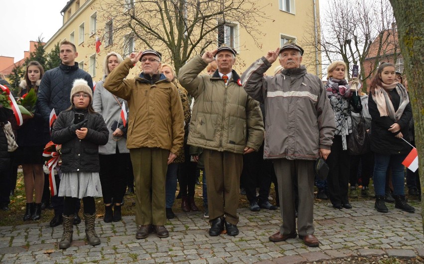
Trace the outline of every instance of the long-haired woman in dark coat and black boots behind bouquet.
[[[19, 96], [34, 90], [38, 92], [44, 69], [40, 63], [31, 61], [26, 66], [25, 79], [20, 82]], [[33, 116], [24, 116], [24, 124], [17, 131], [18, 149], [15, 154], [15, 164], [22, 165], [25, 187], [26, 210], [23, 220], [39, 220], [41, 218], [41, 198], [44, 189], [43, 149], [49, 142], [48, 125], [41, 114], [35, 109]], [[35, 203], [33, 192], [35, 189]]]

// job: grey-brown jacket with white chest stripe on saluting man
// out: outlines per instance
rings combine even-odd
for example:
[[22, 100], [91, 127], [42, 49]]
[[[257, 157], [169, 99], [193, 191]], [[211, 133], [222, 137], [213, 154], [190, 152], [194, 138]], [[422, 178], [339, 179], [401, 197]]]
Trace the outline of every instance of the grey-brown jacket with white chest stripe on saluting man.
[[330, 149], [335, 131], [324, 85], [305, 66], [264, 77], [270, 66], [262, 57], [241, 76], [247, 94], [265, 103], [264, 158], [315, 160], [319, 148]]

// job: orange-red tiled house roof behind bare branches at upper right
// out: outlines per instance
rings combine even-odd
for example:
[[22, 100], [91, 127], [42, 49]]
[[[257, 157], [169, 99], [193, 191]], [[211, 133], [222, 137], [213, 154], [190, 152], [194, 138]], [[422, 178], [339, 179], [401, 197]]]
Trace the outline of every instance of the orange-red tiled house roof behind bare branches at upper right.
[[370, 46], [367, 60], [375, 58], [377, 56], [388, 56], [395, 54], [395, 50], [397, 54], [401, 53], [398, 41], [398, 31], [396, 29], [387, 29], [383, 32], [382, 45], [383, 47], [380, 50], [380, 54], [378, 54], [378, 48], [380, 44], [380, 35], [376, 37], [373, 43]]

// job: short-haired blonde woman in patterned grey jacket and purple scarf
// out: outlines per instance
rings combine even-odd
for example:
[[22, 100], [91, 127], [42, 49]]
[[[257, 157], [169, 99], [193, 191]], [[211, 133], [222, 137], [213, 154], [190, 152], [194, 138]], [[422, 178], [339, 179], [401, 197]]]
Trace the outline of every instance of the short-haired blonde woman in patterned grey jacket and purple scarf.
[[335, 61], [328, 66], [328, 81], [325, 88], [334, 112], [336, 131], [331, 145], [331, 153], [325, 162], [330, 169], [327, 177], [328, 196], [333, 207], [337, 209], [352, 208], [347, 197], [350, 159], [347, 152], [346, 137], [352, 132], [350, 102], [355, 102], [355, 109], [360, 111], [358, 93], [355, 92], [359, 81], [354, 78], [351, 86], [349, 86], [345, 76], [346, 64], [344, 62]]

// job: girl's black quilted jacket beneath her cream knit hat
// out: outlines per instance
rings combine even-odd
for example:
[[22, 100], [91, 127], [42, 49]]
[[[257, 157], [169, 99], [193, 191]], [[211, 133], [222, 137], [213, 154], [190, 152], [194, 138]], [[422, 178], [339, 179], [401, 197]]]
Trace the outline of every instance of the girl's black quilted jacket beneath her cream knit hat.
[[[74, 124], [75, 113], [84, 114], [88, 128], [84, 139], [79, 139], [69, 127]], [[87, 109], [77, 109], [61, 112], [53, 126], [52, 141], [62, 144], [62, 172], [99, 172], [99, 145], [107, 143], [109, 131], [101, 114], [90, 114]]]

